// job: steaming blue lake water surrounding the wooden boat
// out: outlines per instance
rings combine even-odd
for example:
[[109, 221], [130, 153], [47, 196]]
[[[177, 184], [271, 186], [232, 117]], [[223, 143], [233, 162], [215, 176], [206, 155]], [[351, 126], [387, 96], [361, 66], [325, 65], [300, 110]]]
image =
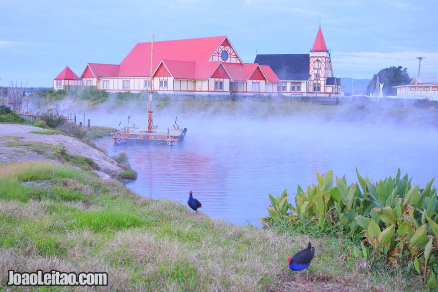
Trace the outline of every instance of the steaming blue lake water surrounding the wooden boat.
[[[142, 102], [84, 108], [92, 125], [146, 127]], [[140, 105], [139, 105], [140, 104]], [[63, 103], [65, 110], [80, 106]], [[216, 106], [218, 105], [218, 106]], [[109, 155], [128, 153], [138, 179], [128, 187], [140, 195], [170, 197], [185, 204], [190, 190], [201, 211], [234, 223], [259, 225], [268, 193], [317, 184], [316, 170], [357, 181], [355, 167], [373, 180], [402, 175], [425, 184], [438, 174], [437, 110], [375, 104], [319, 106], [293, 102], [171, 102], [167, 112], [154, 102], [154, 123], [171, 127], [178, 116], [187, 127], [182, 147], [113, 146], [97, 141]], [[169, 115], [167, 115], [167, 113]], [[434, 184], [436, 185], [436, 184]]]

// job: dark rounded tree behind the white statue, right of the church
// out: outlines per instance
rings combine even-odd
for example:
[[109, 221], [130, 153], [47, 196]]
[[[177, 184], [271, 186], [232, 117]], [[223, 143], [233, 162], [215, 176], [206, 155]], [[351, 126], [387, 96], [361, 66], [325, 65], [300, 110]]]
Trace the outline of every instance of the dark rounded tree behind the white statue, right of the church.
[[397, 95], [397, 89], [393, 88], [393, 86], [405, 85], [411, 82], [407, 68], [403, 68], [402, 66], [392, 66], [382, 69], [379, 73], [374, 74], [373, 79], [371, 79], [366, 87], [367, 93], [374, 93], [376, 90], [377, 76], [379, 77], [379, 83], [384, 83], [382, 89], [384, 96]]

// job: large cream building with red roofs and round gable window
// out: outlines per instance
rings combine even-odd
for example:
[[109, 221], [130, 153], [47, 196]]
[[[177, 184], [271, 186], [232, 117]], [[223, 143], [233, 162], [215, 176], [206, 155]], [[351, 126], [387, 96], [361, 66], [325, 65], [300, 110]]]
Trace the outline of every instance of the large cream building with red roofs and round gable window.
[[[149, 90], [151, 44], [137, 43], [119, 65], [88, 63], [83, 85]], [[269, 66], [244, 64], [226, 36], [154, 41], [152, 76], [153, 90], [169, 94], [272, 94], [280, 83]]]

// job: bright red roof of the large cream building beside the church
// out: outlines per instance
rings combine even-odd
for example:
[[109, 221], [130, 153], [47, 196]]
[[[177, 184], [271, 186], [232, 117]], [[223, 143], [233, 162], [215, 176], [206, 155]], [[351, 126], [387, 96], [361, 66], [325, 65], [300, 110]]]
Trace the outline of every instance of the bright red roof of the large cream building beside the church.
[[[81, 76], [83, 78], [94, 76], [97, 79], [150, 77], [151, 44], [151, 42], [137, 43], [120, 65], [88, 63]], [[232, 81], [247, 81], [252, 76], [256, 79], [266, 79], [268, 82], [280, 82], [268, 66], [243, 64], [237, 53], [235, 55], [238, 63], [210, 61], [222, 46], [231, 47], [235, 53], [226, 36], [154, 41], [152, 75], [165, 74], [173, 79], [187, 80], [207, 80], [212, 76], [229, 77]]]

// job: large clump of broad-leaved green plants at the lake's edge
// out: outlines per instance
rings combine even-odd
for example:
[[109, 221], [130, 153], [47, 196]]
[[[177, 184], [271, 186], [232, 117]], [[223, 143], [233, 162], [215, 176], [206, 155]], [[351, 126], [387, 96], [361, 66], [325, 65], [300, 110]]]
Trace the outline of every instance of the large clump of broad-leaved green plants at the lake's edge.
[[[411, 185], [408, 175], [401, 177], [400, 169], [395, 178], [378, 182], [361, 177], [357, 169], [356, 174], [358, 183], [347, 185], [345, 177], [336, 177], [334, 187], [332, 171], [324, 175], [317, 172], [318, 186], [305, 191], [298, 186], [295, 207], [285, 193], [275, 200], [270, 195], [269, 216], [262, 221], [271, 228], [286, 224], [283, 229], [306, 233], [343, 232], [360, 243], [365, 257], [367, 249], [371, 250], [374, 266], [383, 263], [389, 270], [416, 271], [430, 289], [435, 289], [438, 197], [436, 187], [432, 188], [434, 178], [420, 189]], [[290, 212], [285, 214], [279, 207], [286, 205]], [[353, 253], [359, 254], [357, 246]]]

